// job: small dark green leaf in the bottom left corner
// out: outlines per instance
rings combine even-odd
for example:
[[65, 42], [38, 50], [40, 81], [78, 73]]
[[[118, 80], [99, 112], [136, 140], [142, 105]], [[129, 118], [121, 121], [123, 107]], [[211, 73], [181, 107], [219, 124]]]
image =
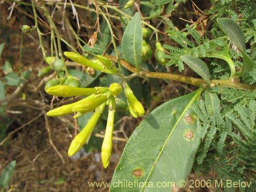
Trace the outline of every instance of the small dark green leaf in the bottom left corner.
[[13, 170], [15, 168], [16, 161], [10, 162], [5, 169], [3, 170], [1, 177], [0, 177], [0, 186], [3, 189], [6, 189], [8, 186], [8, 183], [12, 177]]

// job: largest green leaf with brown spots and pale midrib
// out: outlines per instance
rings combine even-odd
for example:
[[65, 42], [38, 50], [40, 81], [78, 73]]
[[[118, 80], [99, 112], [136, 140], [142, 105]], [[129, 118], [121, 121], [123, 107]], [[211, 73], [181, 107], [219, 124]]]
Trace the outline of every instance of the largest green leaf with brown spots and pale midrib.
[[[111, 192], [169, 192], [173, 183], [182, 184], [178, 182], [190, 173], [200, 144], [199, 120], [190, 109], [202, 90], [167, 101], [147, 115], [125, 145]], [[138, 185], [124, 187], [125, 182]], [[169, 186], [156, 187], [158, 182]]]

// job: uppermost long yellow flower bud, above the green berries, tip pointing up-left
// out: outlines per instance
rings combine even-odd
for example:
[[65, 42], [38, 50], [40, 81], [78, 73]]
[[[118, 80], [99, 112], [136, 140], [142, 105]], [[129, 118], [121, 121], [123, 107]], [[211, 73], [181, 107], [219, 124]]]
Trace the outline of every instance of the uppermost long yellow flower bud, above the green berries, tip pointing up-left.
[[97, 63], [90, 61], [89, 59], [83, 57], [80, 54], [66, 51], [66, 52], [64, 52], [64, 55], [66, 57], [68, 57], [69, 59], [80, 63], [81, 65], [88, 66], [90, 68], [93, 68], [93, 69], [96, 69], [99, 71], [103, 71], [103, 67], [101, 65], [98, 65]]

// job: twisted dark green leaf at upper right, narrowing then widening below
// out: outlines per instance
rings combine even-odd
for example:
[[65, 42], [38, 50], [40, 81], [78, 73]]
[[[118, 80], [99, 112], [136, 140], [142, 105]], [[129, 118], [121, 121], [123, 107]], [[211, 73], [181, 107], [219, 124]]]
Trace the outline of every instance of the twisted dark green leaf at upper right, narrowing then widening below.
[[238, 47], [243, 55], [243, 68], [239, 76], [253, 69], [254, 64], [250, 57], [245, 53], [245, 37], [239, 25], [230, 18], [218, 18], [217, 23], [221, 30], [230, 38], [230, 40]]

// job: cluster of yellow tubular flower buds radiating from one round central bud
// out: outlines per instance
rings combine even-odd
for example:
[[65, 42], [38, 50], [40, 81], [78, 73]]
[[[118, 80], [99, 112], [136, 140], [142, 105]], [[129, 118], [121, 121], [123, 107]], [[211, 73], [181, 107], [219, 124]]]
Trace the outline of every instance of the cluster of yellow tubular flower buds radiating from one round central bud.
[[[103, 58], [101, 58], [100, 60], [102, 59]], [[97, 67], [99, 66], [98, 64], [96, 65]], [[90, 67], [94, 67], [94, 65], [91, 65]], [[102, 69], [108, 72], [116, 72], [115, 68], [113, 68], [113, 65], [111, 63], [105, 65]], [[129, 111], [132, 114], [132, 116], [135, 118], [137, 118], [138, 116], [143, 116], [145, 113], [144, 108], [133, 94], [133, 91], [131, 90], [129, 85], [126, 82], [124, 82], [123, 87], [127, 104], [129, 106]], [[68, 151], [69, 156], [73, 156], [75, 153], [77, 153], [80, 150], [80, 148], [87, 142], [100, 115], [103, 113], [105, 106], [108, 105], [109, 113], [106, 123], [105, 136], [101, 148], [101, 160], [103, 167], [106, 168], [109, 165], [112, 152], [114, 117], [116, 101], [118, 101], [116, 99], [116, 96], [122, 92], [121, 84], [112, 83], [109, 88], [77, 88], [63, 84], [58, 84], [56, 86], [47, 87], [46, 92], [50, 95], [55, 95], [57, 97], [89, 95], [86, 98], [81, 99], [77, 102], [62, 105], [56, 109], [47, 112], [48, 116], [62, 116], [75, 112], [73, 118], [78, 118], [79, 116], [85, 113], [95, 111], [90, 120], [88, 121], [87, 125], [84, 126], [82, 131], [79, 134], [77, 134], [71, 142]]]

